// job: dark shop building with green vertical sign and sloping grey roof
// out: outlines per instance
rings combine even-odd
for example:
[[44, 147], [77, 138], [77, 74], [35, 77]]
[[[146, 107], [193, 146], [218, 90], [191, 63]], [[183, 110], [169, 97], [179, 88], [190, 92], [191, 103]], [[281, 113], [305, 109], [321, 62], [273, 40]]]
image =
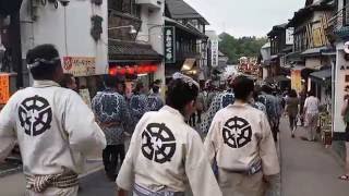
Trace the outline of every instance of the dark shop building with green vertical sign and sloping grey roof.
[[205, 35], [208, 22], [183, 0], [167, 0], [165, 16], [166, 76], [183, 72], [204, 81], [208, 76]]

